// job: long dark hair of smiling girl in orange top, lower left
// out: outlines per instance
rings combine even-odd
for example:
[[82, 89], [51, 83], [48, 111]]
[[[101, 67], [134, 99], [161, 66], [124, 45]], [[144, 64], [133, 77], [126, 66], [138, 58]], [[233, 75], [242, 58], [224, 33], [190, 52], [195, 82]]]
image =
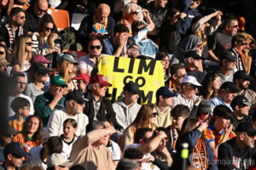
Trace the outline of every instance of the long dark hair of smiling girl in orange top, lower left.
[[22, 128], [22, 136], [24, 138], [24, 142], [27, 142], [28, 141], [28, 130], [27, 130], [27, 125], [28, 123], [30, 122], [30, 120], [33, 118], [33, 117], [36, 117], [38, 118], [38, 121], [39, 121], [39, 124], [38, 124], [38, 130], [33, 134], [32, 138], [34, 140], [38, 140], [41, 144], [43, 142], [43, 139], [44, 139], [44, 133], [43, 133], [43, 122], [41, 120], [41, 118], [39, 116], [36, 116], [36, 115], [31, 115], [31, 116], [27, 116], [26, 117], [26, 120], [23, 124], [23, 128]]

